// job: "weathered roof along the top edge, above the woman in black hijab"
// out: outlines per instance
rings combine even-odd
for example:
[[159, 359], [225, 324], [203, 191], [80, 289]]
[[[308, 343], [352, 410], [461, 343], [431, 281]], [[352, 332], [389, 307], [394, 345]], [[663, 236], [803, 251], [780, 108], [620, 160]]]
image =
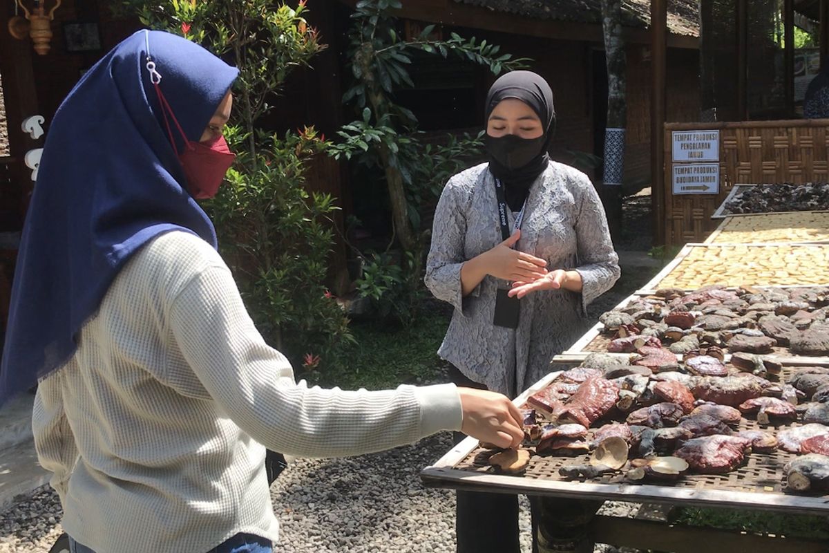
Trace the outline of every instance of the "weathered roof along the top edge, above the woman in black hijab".
[[[538, 19], [601, 23], [601, 0], [455, 0]], [[649, 0], [622, 0], [623, 25], [645, 28], [651, 22]], [[668, 31], [674, 35], [700, 36], [698, 0], [668, 0]]]

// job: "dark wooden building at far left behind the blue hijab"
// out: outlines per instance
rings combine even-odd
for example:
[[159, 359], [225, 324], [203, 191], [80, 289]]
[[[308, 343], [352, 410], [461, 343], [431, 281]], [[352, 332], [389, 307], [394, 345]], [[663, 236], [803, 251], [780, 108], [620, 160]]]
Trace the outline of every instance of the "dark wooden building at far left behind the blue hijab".
[[[28, 8], [34, 2], [24, 2]], [[55, 4], [47, 0], [48, 13]], [[137, 21], [119, 20], [99, 0], [63, 0], [51, 22], [49, 51], [40, 55], [28, 38], [10, 34], [23, 11], [12, 0], [0, 2], [0, 346], [5, 334], [17, 240], [32, 192], [32, 169], [26, 153], [42, 148], [44, 137], [32, 138], [21, 124], [42, 115], [49, 122], [65, 95], [106, 51], [138, 29]]]

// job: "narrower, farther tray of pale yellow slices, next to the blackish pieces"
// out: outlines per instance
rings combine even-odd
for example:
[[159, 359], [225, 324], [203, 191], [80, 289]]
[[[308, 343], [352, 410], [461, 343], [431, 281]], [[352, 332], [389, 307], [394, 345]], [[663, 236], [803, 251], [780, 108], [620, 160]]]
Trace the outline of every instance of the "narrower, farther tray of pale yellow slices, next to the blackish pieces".
[[745, 214], [725, 217], [705, 244], [829, 243], [829, 211]]

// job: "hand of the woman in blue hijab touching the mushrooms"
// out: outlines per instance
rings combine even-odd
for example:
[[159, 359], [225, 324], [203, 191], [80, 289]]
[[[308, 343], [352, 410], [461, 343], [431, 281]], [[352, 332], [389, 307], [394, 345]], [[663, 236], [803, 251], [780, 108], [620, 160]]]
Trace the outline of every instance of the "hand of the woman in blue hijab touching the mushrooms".
[[499, 448], [516, 448], [524, 439], [521, 411], [506, 395], [458, 388], [463, 409], [461, 432]]

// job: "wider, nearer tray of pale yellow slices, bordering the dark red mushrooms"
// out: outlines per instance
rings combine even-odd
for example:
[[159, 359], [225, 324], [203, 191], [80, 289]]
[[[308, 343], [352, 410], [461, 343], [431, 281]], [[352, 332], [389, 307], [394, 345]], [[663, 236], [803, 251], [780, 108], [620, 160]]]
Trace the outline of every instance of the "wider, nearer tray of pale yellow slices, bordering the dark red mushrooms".
[[737, 286], [815, 286], [829, 284], [829, 245], [689, 244], [642, 292]]

